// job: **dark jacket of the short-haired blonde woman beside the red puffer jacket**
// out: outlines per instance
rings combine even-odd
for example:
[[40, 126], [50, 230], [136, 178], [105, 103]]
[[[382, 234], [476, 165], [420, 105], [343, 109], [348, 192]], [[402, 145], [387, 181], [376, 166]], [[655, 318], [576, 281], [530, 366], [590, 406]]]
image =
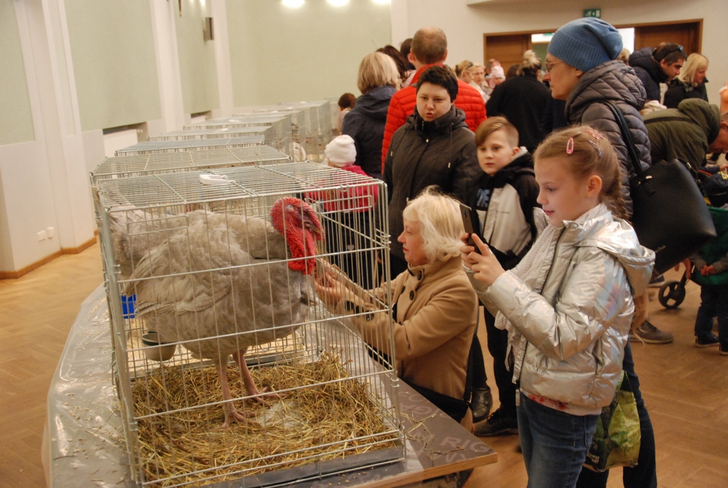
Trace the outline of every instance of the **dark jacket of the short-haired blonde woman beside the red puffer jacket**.
[[381, 141], [389, 100], [396, 91], [393, 87], [376, 87], [357, 98], [341, 125], [341, 134], [350, 135], [354, 140], [357, 166], [371, 177], [381, 178]]

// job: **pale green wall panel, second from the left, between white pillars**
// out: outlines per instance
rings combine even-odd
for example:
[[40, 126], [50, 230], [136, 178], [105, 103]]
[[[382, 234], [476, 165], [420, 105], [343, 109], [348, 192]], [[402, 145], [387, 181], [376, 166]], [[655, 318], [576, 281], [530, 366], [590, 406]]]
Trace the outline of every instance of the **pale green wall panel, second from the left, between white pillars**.
[[81, 127], [161, 119], [149, 0], [66, 0]]

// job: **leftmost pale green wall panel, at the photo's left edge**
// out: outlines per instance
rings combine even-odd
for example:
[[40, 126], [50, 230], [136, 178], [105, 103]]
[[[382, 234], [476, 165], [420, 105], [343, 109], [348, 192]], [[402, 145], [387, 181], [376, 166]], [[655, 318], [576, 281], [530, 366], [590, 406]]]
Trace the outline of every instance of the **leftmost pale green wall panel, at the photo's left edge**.
[[12, 0], [0, 0], [0, 145], [35, 140]]

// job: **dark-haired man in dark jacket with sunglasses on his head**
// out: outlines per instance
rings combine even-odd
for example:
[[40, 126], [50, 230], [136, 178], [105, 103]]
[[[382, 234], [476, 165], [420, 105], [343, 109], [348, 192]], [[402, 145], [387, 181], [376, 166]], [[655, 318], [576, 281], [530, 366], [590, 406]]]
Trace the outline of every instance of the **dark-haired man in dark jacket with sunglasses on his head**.
[[660, 101], [660, 83], [678, 76], [686, 57], [683, 47], [672, 42], [663, 42], [657, 49], [637, 49], [630, 55], [630, 66], [642, 81], [647, 101]]

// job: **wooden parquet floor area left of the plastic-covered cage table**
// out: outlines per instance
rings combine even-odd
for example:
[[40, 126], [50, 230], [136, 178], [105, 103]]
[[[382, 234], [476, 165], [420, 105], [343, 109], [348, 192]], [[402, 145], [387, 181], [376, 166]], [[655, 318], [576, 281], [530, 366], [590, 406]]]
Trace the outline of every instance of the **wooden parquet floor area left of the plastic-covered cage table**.
[[79, 306], [102, 281], [98, 244], [0, 280], [2, 488], [46, 486], [40, 452], [48, 388]]

